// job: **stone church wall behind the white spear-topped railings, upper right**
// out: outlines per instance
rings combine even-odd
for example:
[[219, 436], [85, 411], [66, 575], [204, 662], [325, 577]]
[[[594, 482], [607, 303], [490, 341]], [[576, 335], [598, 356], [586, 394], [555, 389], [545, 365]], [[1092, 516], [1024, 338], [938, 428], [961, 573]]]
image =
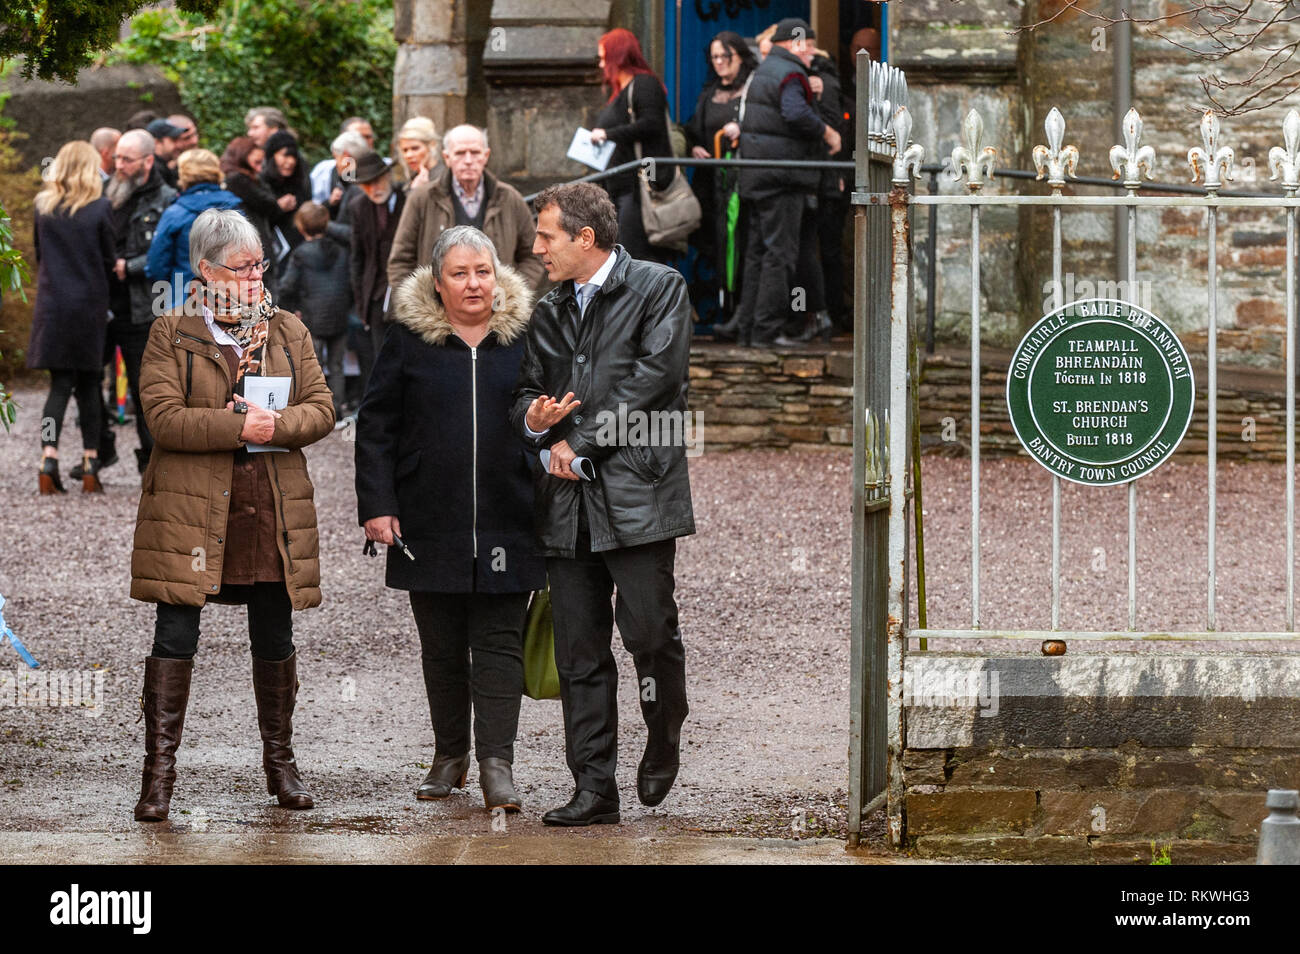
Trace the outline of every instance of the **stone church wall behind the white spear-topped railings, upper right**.
[[[920, 0], [890, 17], [892, 61], [907, 73], [913, 135], [926, 160], [942, 162], [961, 136], [961, 118], [975, 107], [984, 117], [984, 143], [997, 149], [998, 166], [1032, 169], [1034, 146], [1045, 143], [1043, 122], [1052, 107], [1066, 121], [1065, 142], [1079, 147], [1078, 173], [1110, 178], [1109, 149], [1119, 143], [1112, 92], [1113, 29], [1058, 0], [1031, 0], [1023, 10], [996, 0], [948, 4]], [[1134, 17], [1167, 13], [1157, 0], [1138, 0]], [[1022, 18], [1023, 17], [1023, 18]], [[1034, 31], [1017, 27], [1053, 17]], [[1170, 40], [1204, 45], [1178, 21], [1161, 25]], [[1282, 23], [1270, 45], [1300, 40], [1300, 25]], [[1200, 113], [1206, 103], [1201, 77], [1219, 70], [1243, 78], [1260, 55], [1245, 49], [1222, 64], [1201, 62], [1143, 29], [1132, 31], [1132, 105], [1144, 121], [1141, 143], [1156, 151], [1154, 179], [1191, 183], [1187, 151], [1201, 144]], [[1268, 97], [1266, 97], [1268, 99]], [[1228, 188], [1280, 194], [1269, 182], [1268, 152], [1282, 144], [1282, 121], [1294, 105], [1279, 99], [1264, 109], [1221, 121], [1219, 143], [1236, 157]], [[950, 191], [961, 183], [940, 186]], [[926, 183], [918, 185], [926, 191]], [[1044, 194], [1039, 182], [1004, 179], [985, 192]], [[1066, 195], [1114, 190], [1067, 186]], [[918, 212], [916, 308], [924, 315], [926, 214]], [[939, 212], [936, 328], [939, 341], [970, 338], [970, 225], [966, 209]], [[982, 331], [991, 344], [1013, 346], [1050, 298], [1052, 216], [1046, 208], [982, 213]], [[1282, 211], [1219, 213], [1219, 354], [1232, 364], [1279, 368], [1286, 315], [1284, 226]], [[1114, 255], [1114, 213], [1066, 209], [1062, 270], [1076, 287], [1119, 277]], [[1204, 209], [1153, 209], [1138, 216], [1138, 300], [1204, 354], [1208, 302], [1208, 235]], [[1079, 294], [1078, 298], [1091, 296]], [[1070, 295], [1066, 295], [1067, 300]], [[1199, 335], [1199, 342], [1195, 341]]]

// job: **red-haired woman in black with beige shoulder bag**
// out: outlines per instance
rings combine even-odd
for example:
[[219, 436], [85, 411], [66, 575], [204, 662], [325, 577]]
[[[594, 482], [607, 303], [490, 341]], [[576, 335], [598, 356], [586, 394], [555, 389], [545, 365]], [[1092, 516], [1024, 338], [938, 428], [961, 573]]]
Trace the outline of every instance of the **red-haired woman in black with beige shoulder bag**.
[[[595, 116], [592, 142], [615, 143], [610, 165], [636, 160], [636, 147], [641, 156], [672, 156], [668, 139], [668, 92], [654, 74], [641, 52], [641, 44], [628, 30], [610, 30], [597, 44], [604, 83], [610, 87], [610, 100]], [[664, 188], [672, 182], [672, 166], [656, 165], [654, 187]], [[625, 172], [604, 181], [604, 188], [619, 211], [619, 243], [633, 259], [666, 263], [668, 252], [650, 244], [641, 224], [641, 192], [637, 173]]]

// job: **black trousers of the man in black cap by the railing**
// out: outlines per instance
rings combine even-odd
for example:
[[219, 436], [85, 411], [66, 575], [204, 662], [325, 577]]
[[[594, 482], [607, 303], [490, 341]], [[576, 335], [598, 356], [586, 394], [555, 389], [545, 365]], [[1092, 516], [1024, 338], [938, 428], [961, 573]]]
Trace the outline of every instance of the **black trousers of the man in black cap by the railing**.
[[741, 289], [741, 334], [768, 344], [792, 320], [790, 286], [800, 261], [803, 192], [777, 192], [750, 203]]

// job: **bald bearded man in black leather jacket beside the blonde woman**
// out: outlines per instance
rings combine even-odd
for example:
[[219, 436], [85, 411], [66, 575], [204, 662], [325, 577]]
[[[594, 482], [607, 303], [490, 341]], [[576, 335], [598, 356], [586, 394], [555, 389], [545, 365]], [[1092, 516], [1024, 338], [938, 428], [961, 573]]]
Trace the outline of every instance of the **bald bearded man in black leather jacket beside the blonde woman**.
[[[109, 308], [113, 312], [108, 322], [108, 338], [104, 344], [104, 361], [110, 364], [113, 348], [122, 348], [122, 363], [126, 365], [126, 380], [135, 402], [135, 432], [140, 438], [140, 448], [135, 451], [136, 467], [144, 473], [153, 450], [153, 438], [144, 425], [140, 413], [140, 357], [150, 339], [150, 325], [157, 317], [153, 313], [155, 295], [144, 277], [144, 260], [148, 257], [153, 230], [157, 227], [162, 209], [176, 199], [172, 188], [155, 164], [153, 136], [143, 129], [133, 129], [117, 140], [117, 170], [104, 183], [104, 195], [113, 207], [113, 226], [117, 231], [117, 265], [113, 281], [109, 283]], [[160, 299], [160, 300], [165, 300]], [[112, 404], [105, 404], [112, 407]], [[110, 428], [104, 429], [100, 447], [100, 467], [117, 458], [116, 443]], [[105, 451], [108, 454], [105, 455]]]

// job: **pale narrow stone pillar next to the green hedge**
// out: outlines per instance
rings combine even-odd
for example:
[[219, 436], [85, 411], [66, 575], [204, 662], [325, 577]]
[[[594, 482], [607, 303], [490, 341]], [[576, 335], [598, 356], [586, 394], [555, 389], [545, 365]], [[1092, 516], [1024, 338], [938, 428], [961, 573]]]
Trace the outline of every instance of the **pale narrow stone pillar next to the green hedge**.
[[469, 71], [478, 60], [471, 45], [477, 35], [481, 48], [484, 8], [476, 0], [394, 0], [393, 32], [399, 43], [393, 69], [394, 135], [412, 116], [428, 116], [439, 134], [462, 122], [482, 122], [481, 97], [474, 103]]

